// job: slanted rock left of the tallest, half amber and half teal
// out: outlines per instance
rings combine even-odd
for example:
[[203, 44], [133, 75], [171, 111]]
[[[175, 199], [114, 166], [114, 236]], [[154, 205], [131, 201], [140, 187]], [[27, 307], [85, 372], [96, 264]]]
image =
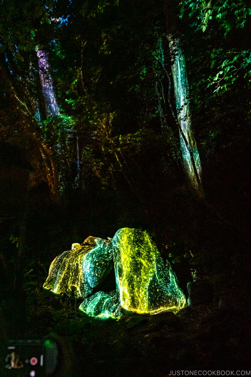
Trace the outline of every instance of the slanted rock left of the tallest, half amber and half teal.
[[85, 298], [105, 279], [111, 268], [111, 242], [88, 237], [83, 246], [73, 244], [71, 250], [54, 259], [44, 288]]

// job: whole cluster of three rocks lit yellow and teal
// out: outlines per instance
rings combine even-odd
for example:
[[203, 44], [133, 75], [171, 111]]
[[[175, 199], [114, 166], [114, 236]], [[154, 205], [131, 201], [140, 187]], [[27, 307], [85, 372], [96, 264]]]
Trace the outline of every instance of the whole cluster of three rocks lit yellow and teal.
[[[116, 291], [98, 290], [114, 264]], [[119, 318], [123, 313], [155, 314], [186, 305], [169, 262], [145, 231], [122, 228], [113, 239], [85, 239], [54, 259], [44, 288], [74, 294], [81, 313]], [[101, 288], [101, 287], [100, 287]]]

